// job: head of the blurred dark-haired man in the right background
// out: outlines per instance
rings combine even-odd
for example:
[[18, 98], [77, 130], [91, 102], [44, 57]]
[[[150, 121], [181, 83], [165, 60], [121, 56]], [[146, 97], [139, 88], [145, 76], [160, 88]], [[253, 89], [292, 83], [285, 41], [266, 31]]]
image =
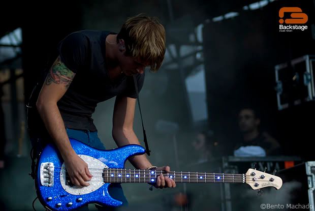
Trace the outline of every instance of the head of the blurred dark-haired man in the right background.
[[238, 115], [238, 125], [241, 132], [251, 132], [257, 129], [260, 120], [251, 109], [243, 109]]

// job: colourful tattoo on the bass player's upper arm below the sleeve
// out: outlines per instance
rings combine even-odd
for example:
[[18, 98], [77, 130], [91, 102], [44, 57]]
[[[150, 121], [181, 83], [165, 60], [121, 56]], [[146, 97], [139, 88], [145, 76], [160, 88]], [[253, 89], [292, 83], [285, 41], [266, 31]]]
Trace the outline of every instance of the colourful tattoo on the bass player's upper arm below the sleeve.
[[54, 82], [56, 84], [64, 84], [66, 88], [69, 88], [74, 76], [75, 73], [69, 70], [58, 57], [47, 74], [45, 84], [50, 85]]

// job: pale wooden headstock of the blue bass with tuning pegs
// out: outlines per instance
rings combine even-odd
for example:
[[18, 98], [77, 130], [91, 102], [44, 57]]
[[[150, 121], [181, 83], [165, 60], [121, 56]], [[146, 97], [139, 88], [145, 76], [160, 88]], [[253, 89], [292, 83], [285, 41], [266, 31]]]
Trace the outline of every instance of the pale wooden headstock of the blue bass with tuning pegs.
[[265, 187], [280, 189], [282, 186], [282, 179], [278, 176], [250, 168], [246, 172], [246, 183], [254, 190]]

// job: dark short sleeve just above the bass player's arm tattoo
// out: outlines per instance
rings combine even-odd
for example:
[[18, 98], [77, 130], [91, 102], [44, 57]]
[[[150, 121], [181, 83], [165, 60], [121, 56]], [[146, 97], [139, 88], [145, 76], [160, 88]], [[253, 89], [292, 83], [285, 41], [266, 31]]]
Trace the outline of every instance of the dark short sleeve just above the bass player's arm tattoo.
[[68, 35], [58, 45], [61, 61], [74, 73], [86, 66], [88, 49], [89, 42], [87, 37], [79, 32]]

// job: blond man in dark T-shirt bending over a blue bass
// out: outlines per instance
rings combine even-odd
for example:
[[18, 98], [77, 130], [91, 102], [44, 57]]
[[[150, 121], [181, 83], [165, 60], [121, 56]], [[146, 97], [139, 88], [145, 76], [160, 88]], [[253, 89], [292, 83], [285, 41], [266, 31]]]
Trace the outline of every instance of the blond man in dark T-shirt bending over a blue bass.
[[[97, 104], [115, 97], [112, 136], [118, 146], [139, 144], [133, 130], [136, 89], [144, 82], [144, 69], [157, 71], [165, 54], [165, 29], [155, 17], [129, 18], [118, 34], [108, 31], [74, 32], [58, 45], [59, 55], [39, 81], [27, 110], [29, 135], [38, 156], [47, 143], [54, 143], [75, 186], [89, 186], [92, 175], [75, 153], [69, 138], [105, 149], [91, 118]], [[136, 80], [134, 80], [134, 78]], [[136, 81], [136, 84], [134, 83]], [[131, 157], [137, 169], [156, 168], [145, 155]], [[157, 177], [155, 187], [175, 187], [173, 179]], [[120, 184], [109, 193], [127, 204]], [[98, 206], [100, 210], [110, 207]], [[87, 205], [80, 210], [87, 210]]]

